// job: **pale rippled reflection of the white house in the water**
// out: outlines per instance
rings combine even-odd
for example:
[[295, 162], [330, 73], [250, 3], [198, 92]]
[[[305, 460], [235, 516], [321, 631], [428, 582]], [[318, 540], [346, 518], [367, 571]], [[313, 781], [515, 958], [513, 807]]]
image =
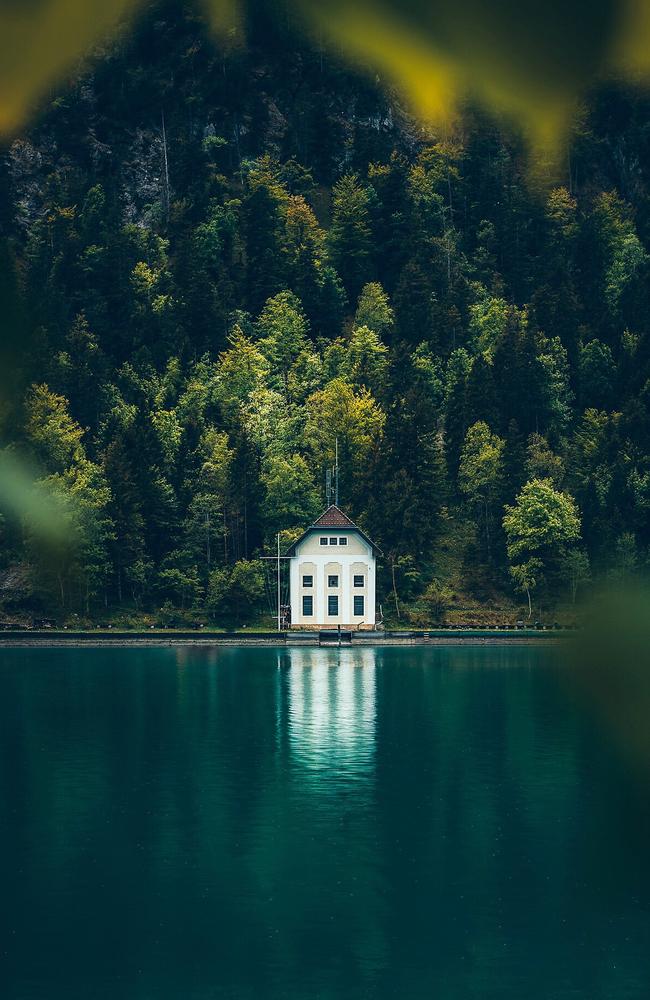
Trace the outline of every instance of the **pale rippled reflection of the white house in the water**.
[[374, 770], [375, 650], [288, 651], [288, 743], [305, 768], [336, 767], [337, 782]]

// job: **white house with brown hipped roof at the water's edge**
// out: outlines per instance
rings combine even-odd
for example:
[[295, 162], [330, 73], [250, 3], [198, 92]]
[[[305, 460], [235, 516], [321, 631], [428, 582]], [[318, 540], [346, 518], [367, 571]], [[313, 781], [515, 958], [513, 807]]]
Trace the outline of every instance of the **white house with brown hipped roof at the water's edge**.
[[288, 549], [292, 628], [375, 627], [377, 546], [334, 504]]

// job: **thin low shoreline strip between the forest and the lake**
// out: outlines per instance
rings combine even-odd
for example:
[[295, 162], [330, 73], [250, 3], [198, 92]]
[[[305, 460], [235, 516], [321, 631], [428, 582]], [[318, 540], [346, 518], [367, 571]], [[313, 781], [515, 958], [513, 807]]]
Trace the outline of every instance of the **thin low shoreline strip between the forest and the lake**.
[[[430, 629], [428, 631], [354, 632], [339, 643], [336, 633], [306, 632], [0, 632], [0, 650], [20, 648], [164, 648], [168, 646], [239, 646], [323, 649], [367, 646], [530, 646], [558, 645], [569, 630]], [[345, 635], [345, 634], [344, 634]]]

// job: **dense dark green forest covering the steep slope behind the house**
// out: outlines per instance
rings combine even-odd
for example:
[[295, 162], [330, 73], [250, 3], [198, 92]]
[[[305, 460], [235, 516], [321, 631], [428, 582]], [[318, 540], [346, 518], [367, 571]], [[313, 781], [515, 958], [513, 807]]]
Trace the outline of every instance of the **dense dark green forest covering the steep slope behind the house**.
[[337, 440], [393, 618], [643, 573], [648, 94], [540, 180], [470, 102], [426, 129], [289, 18], [247, 39], [150, 4], [0, 150], [3, 443], [66, 526], [5, 516], [2, 616], [270, 621]]

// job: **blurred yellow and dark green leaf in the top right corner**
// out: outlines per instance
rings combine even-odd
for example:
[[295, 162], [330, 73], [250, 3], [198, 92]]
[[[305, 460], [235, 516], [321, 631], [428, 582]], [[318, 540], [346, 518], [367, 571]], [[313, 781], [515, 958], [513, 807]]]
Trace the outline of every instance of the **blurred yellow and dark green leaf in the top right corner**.
[[607, 73], [650, 70], [648, 0], [296, 0], [319, 35], [383, 72], [425, 120], [472, 95], [538, 147]]

